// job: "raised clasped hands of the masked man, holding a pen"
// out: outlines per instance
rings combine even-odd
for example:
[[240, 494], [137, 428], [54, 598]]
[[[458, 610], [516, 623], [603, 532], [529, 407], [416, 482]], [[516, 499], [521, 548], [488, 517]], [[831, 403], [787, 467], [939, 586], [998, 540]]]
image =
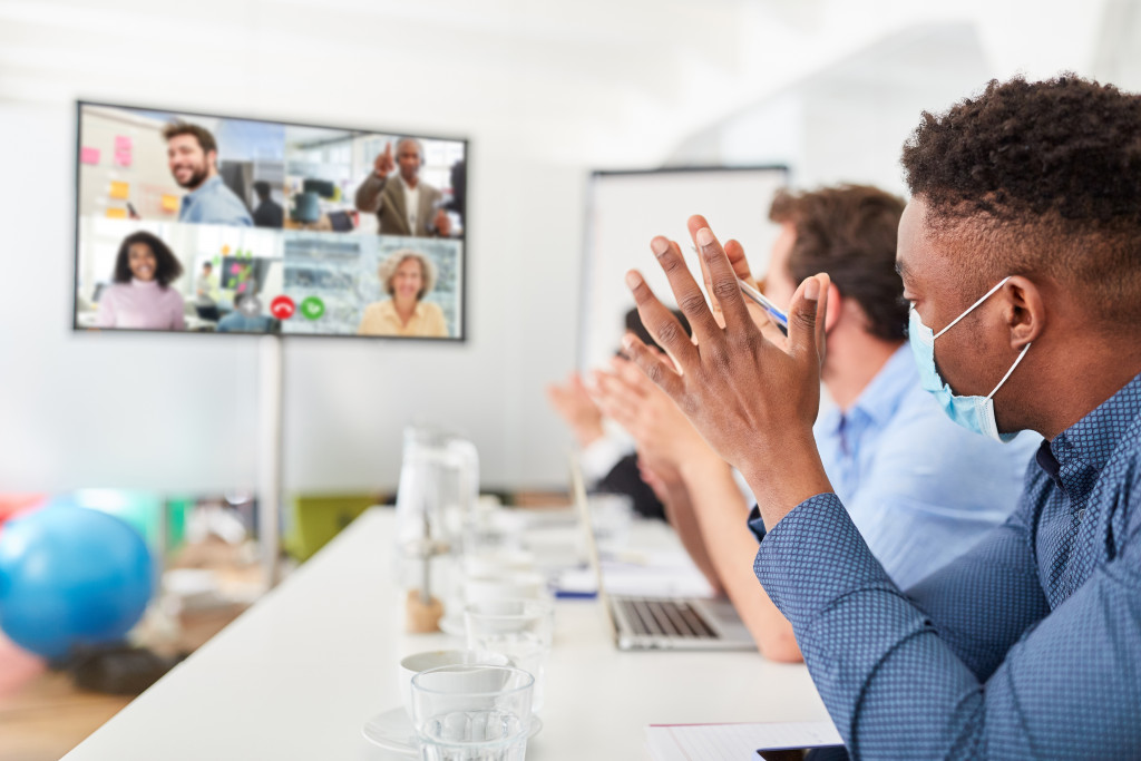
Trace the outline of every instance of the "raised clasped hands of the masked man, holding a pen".
[[[630, 270], [626, 285], [642, 324], [677, 369], [632, 334], [623, 345], [705, 440], [744, 473], [761, 502], [766, 524], [774, 526], [809, 496], [831, 491], [812, 438], [820, 400], [828, 277], [816, 275], [796, 290], [785, 339], [775, 325], [748, 311], [735, 270], [744, 265], [739, 244], [729, 246], [737, 254], [730, 261], [704, 218], [690, 218], [689, 229], [721, 321], [706, 303], [678, 244], [658, 236], [650, 248], [696, 340], [690, 342], [641, 275]], [[747, 275], [747, 266], [744, 272]]]

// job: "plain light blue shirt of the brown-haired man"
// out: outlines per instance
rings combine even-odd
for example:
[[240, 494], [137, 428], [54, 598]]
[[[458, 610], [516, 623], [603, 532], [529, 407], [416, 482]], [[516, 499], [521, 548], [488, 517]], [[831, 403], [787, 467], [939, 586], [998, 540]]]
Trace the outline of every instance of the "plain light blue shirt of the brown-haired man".
[[923, 390], [906, 343], [845, 412], [822, 411], [812, 431], [836, 496], [905, 588], [1010, 516], [1042, 440], [1022, 434], [1000, 444], [955, 424]]

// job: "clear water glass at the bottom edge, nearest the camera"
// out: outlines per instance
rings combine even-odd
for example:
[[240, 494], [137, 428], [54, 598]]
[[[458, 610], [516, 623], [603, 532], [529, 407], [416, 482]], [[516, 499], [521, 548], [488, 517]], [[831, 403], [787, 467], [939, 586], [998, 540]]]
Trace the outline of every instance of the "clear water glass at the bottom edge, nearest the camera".
[[421, 761], [523, 761], [535, 679], [510, 666], [453, 665], [412, 678]]

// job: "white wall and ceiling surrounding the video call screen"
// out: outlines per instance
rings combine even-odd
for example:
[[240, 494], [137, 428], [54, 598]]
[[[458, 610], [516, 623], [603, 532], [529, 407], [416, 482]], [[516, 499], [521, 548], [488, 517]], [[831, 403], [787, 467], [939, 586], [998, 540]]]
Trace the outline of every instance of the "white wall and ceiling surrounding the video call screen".
[[[899, 48], [924, 26], [952, 39]], [[544, 486], [589, 169], [890, 185], [919, 108], [1018, 67], [1135, 80], [1138, 30], [1123, 0], [0, 0], [0, 489], [257, 480], [254, 339], [70, 331], [78, 97], [470, 137], [470, 340], [289, 341], [286, 487], [390, 487], [418, 416], [466, 430], [485, 484]]]

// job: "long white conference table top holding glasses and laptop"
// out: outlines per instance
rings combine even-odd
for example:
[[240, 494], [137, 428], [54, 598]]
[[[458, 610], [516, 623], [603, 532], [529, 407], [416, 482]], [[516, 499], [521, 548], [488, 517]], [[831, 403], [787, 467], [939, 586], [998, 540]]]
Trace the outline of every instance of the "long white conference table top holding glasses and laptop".
[[[394, 758], [361, 729], [400, 705], [397, 662], [462, 641], [404, 632], [393, 525], [390, 509], [366, 511], [65, 759]], [[637, 525], [633, 543], [655, 531], [666, 533]], [[756, 653], [620, 653], [597, 600], [560, 599], [555, 615], [534, 761], [648, 759], [649, 723], [827, 719], [802, 665]]]

